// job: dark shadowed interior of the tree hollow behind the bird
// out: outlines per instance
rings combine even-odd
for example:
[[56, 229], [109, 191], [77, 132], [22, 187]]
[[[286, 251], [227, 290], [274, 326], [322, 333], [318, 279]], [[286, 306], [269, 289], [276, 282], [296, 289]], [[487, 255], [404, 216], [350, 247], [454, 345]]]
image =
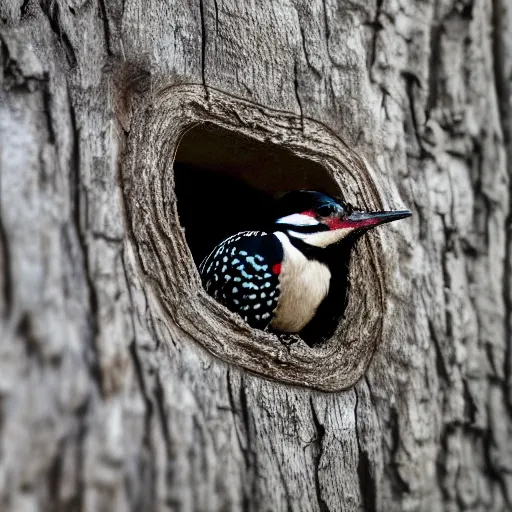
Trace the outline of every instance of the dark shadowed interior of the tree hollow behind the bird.
[[[339, 195], [319, 163], [210, 123], [183, 136], [174, 176], [180, 223], [196, 265], [224, 238], [264, 229], [272, 201], [285, 192], [310, 189]], [[324, 339], [326, 333], [313, 337]]]

